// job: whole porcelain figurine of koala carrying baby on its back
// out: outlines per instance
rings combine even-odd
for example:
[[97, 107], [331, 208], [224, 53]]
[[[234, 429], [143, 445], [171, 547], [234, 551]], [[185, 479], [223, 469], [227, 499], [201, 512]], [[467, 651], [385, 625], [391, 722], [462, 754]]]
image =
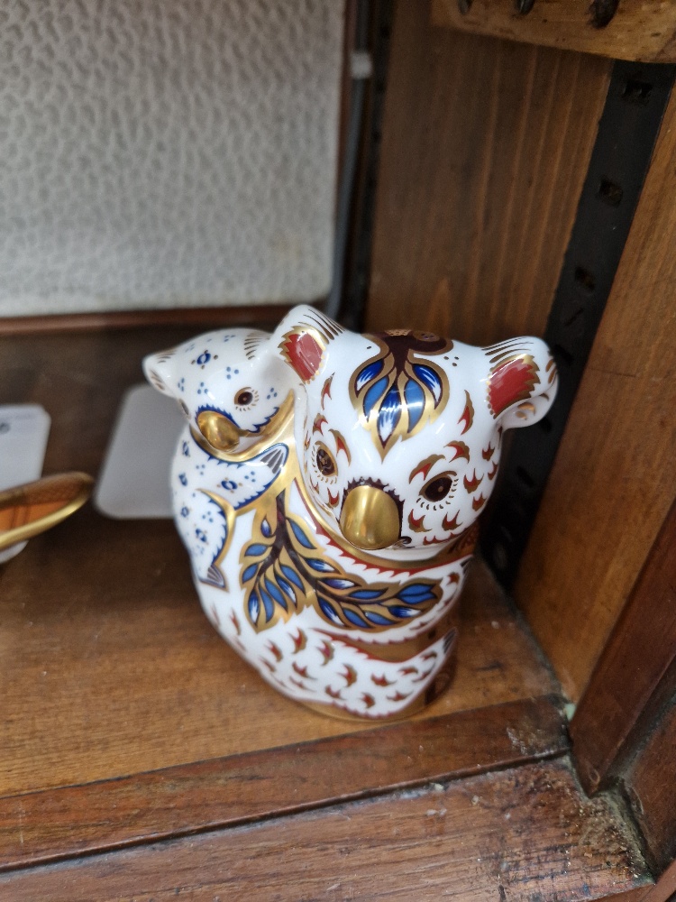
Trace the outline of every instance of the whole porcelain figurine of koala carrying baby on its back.
[[455, 603], [503, 433], [556, 393], [538, 338], [357, 335], [315, 308], [143, 363], [186, 426], [178, 532], [215, 629], [325, 713], [414, 713], [449, 683]]

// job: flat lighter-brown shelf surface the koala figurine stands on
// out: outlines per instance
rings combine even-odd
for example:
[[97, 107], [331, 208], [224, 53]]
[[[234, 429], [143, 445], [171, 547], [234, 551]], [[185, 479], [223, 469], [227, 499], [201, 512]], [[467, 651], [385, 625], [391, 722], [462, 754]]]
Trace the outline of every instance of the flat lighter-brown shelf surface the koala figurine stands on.
[[[87, 783], [368, 729], [275, 692], [202, 613], [166, 522], [81, 511], [0, 575], [0, 793]], [[429, 716], [556, 691], [477, 568], [452, 689]]]

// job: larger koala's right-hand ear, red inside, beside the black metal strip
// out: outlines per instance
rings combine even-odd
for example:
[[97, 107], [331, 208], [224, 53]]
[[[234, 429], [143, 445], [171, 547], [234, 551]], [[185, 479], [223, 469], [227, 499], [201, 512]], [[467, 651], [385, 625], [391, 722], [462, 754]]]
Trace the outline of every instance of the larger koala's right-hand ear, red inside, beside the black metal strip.
[[543, 419], [556, 396], [556, 364], [539, 338], [513, 338], [483, 348], [489, 364], [488, 403], [505, 429]]

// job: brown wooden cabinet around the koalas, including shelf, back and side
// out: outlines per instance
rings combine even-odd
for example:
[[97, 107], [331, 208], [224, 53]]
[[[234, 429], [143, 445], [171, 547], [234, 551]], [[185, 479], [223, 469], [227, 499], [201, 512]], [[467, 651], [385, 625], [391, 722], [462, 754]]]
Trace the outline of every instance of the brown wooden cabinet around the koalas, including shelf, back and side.
[[[420, 325], [489, 343], [544, 334], [611, 60], [672, 62], [676, 20], [656, 4], [648, 40], [645, 4], [634, 17], [620, 0], [606, 31], [581, 31], [571, 0], [535, 0], [532, 19], [507, 0], [466, 5], [394, 6], [360, 259], [368, 327], [409, 325], [415, 307]], [[676, 889], [674, 161], [671, 97], [520, 611], [478, 566], [454, 689], [424, 715], [348, 727], [255, 682], [196, 608], [170, 523], [81, 511], [0, 569], [0, 897], [664, 902]], [[280, 312], [257, 308], [260, 326]], [[52, 412], [46, 472], [96, 474], [142, 355], [217, 321], [5, 321], [0, 402]]]

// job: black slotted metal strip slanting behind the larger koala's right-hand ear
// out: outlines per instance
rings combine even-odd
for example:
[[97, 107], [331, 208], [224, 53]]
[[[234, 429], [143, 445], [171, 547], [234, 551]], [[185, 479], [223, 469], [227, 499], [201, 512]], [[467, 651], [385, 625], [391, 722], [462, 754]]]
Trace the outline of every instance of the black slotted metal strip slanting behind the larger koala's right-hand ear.
[[557, 400], [531, 429], [517, 429], [501, 467], [498, 503], [481, 548], [509, 586], [553, 466], [606, 307], [653, 156], [676, 66], [617, 61], [580, 195], [544, 339], [559, 365]]

